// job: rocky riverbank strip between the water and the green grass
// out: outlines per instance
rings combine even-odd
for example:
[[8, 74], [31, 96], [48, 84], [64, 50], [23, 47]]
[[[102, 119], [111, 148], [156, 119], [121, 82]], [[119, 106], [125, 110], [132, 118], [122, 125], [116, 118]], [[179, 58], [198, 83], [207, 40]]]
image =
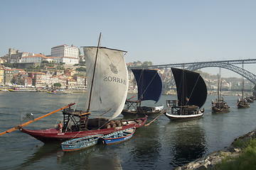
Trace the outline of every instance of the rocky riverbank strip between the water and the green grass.
[[183, 166], [178, 166], [175, 170], [218, 169], [218, 167], [221, 167], [221, 163], [223, 163], [224, 160], [235, 162], [235, 158], [241, 156], [242, 147], [244, 147], [245, 143], [250, 142], [250, 140], [255, 140], [255, 136], [256, 130], [248, 132], [247, 134], [236, 138], [229, 147], [208, 154], [206, 157], [201, 157]]

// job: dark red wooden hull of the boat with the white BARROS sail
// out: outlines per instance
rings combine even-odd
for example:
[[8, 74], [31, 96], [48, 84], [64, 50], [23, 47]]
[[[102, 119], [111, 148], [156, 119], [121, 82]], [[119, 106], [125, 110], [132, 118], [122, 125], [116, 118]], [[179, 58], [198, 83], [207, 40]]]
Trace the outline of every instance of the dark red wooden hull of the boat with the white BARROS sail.
[[128, 128], [140, 128], [146, 123], [146, 118], [138, 118], [134, 120], [123, 120], [122, 126], [114, 127], [114, 128], [105, 128], [98, 130], [85, 130], [85, 131], [76, 131], [76, 132], [60, 132], [58, 128], [51, 128], [47, 130], [26, 130], [21, 128], [21, 132], [25, 132], [32, 137], [35, 137], [37, 140], [40, 140], [44, 143], [49, 142], [65, 142], [66, 140], [70, 140], [73, 138], [86, 137], [90, 135], [103, 134], [107, 135], [112, 132], [116, 132], [117, 130], [125, 130]]

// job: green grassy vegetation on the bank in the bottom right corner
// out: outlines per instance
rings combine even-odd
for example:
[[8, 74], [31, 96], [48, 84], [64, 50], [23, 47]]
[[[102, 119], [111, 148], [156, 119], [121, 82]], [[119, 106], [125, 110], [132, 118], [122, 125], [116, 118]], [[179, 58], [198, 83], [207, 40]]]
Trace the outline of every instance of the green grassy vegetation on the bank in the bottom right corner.
[[247, 142], [237, 140], [233, 144], [235, 147], [240, 147], [242, 152], [239, 157], [225, 157], [223, 162], [217, 164], [213, 169], [256, 169], [256, 139], [250, 137]]

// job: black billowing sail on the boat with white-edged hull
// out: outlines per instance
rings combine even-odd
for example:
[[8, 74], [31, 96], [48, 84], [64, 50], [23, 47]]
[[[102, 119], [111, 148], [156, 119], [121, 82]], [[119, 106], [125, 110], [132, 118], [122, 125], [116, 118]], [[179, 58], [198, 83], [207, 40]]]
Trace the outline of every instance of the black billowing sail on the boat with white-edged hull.
[[203, 106], [207, 98], [206, 83], [200, 74], [186, 69], [171, 68], [176, 83], [178, 106]]

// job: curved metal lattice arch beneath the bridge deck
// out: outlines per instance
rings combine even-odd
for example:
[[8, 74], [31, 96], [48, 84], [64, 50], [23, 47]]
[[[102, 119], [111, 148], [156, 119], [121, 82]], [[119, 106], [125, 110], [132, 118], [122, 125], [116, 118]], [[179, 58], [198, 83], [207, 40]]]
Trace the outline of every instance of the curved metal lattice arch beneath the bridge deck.
[[203, 62], [200, 64], [193, 64], [190, 67], [187, 67], [186, 69], [195, 71], [197, 69], [202, 69], [206, 67], [220, 67], [223, 69], [229, 69], [230, 71], [233, 71], [237, 74], [240, 74], [242, 77], [245, 77], [245, 79], [252, 82], [252, 84], [256, 85], [256, 76], [255, 74], [252, 74], [251, 72], [248, 72], [246, 69], [242, 69], [241, 67], [237, 67], [233, 64], [228, 64], [225, 62]]

